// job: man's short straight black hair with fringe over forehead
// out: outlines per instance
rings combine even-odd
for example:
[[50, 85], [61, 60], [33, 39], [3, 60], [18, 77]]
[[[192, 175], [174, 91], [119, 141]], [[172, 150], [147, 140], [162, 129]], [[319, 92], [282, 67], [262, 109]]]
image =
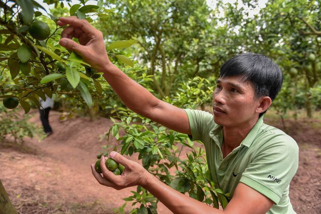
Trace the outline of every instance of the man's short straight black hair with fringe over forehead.
[[225, 62], [220, 78], [230, 76], [242, 76], [244, 81], [253, 84], [256, 98], [268, 96], [271, 100], [274, 100], [283, 82], [280, 68], [270, 58], [253, 53], [236, 55]]

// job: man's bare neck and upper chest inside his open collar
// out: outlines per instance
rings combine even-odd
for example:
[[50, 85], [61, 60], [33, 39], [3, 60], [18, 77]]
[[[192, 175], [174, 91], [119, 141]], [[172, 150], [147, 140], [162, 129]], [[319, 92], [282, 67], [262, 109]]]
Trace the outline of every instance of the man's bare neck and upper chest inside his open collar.
[[241, 144], [256, 122], [257, 119], [254, 119], [242, 126], [223, 127], [222, 152], [224, 157]]

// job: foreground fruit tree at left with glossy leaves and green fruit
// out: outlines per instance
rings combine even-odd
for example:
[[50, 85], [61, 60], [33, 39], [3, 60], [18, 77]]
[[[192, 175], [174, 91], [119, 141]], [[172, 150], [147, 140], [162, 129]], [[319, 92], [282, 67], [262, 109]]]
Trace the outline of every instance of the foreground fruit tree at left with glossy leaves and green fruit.
[[[56, 9], [68, 13], [60, 15], [93, 22], [91, 16], [106, 16], [102, 1], [97, 5], [86, 5], [84, 0], [80, 1], [81, 4], [70, 5], [67, 1], [69, 10], [64, 8], [64, 2], [45, 0], [42, 5], [34, 0], [0, 2], [0, 99], [8, 109], [0, 108], [1, 140], [7, 134], [12, 134], [16, 140], [25, 135], [32, 137], [35, 133], [26, 119], [18, 119], [15, 114], [18, 105], [27, 114], [32, 106], [40, 107], [39, 97], [46, 100], [46, 95], [52, 97], [53, 94], [72, 92], [81, 96], [90, 107], [93, 105], [90, 92], [102, 94], [100, 82], [96, 80], [100, 74], [76, 53], [59, 45], [62, 28], [56, 25], [58, 18], [41, 12], [46, 11], [45, 4], [53, 4]], [[117, 54], [117, 49], [133, 43], [135, 41], [108, 44], [110, 57], [132, 66], [127, 57]], [[9, 213], [12, 205], [1, 181], [0, 184], [0, 202], [4, 204], [4, 212]]]

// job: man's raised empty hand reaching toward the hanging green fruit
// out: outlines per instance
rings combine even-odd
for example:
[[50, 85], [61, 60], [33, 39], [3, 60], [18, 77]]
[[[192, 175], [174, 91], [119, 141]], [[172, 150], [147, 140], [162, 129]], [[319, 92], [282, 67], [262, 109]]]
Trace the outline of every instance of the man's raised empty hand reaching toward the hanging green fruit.
[[[61, 46], [79, 54], [86, 63], [97, 71], [101, 71], [111, 64], [102, 33], [91, 26], [87, 20], [77, 17], [60, 17], [57, 24], [59, 26], [68, 25], [61, 33], [59, 41]], [[72, 38], [77, 38], [79, 44]]]

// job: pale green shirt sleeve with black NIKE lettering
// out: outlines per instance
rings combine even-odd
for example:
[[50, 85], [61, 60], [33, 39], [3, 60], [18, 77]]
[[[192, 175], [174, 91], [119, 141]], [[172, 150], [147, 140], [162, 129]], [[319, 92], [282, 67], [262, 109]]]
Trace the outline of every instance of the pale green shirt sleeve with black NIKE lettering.
[[275, 204], [298, 168], [298, 146], [290, 136], [284, 135], [277, 135], [261, 146], [240, 179]]

